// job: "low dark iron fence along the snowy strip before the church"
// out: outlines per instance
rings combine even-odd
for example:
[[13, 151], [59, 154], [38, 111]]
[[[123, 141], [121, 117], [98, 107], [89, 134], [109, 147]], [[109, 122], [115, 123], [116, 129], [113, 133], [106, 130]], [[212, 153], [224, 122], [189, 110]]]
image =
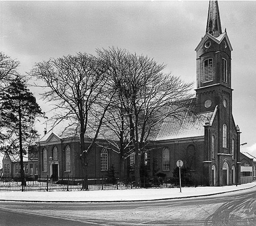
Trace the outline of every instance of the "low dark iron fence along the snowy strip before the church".
[[[56, 191], [76, 191], [82, 189], [84, 178], [27, 178], [22, 181], [21, 178], [4, 178], [0, 179], [0, 192], [56, 192]], [[113, 189], [133, 189], [136, 188], [135, 178], [89, 178], [89, 190], [113, 190]], [[170, 188], [178, 187], [178, 178], [140, 178], [143, 188]], [[183, 181], [183, 186], [186, 181]]]

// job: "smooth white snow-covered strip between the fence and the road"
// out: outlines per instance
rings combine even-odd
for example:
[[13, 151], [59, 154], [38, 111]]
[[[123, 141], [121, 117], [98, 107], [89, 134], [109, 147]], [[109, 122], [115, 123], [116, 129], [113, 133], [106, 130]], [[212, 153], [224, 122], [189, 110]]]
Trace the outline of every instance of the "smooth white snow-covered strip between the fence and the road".
[[225, 187], [184, 187], [181, 188], [181, 193], [179, 188], [92, 190], [79, 192], [0, 192], [0, 200], [41, 202], [148, 201], [219, 194], [252, 187], [256, 190], [256, 182]]

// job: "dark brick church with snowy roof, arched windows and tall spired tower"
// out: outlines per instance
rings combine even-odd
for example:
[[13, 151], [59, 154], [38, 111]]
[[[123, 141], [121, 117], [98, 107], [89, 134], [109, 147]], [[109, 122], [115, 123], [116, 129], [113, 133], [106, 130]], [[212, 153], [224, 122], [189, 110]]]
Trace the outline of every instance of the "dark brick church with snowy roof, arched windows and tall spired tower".
[[[240, 128], [232, 115], [232, 46], [226, 30], [222, 32], [217, 1], [209, 2], [206, 32], [196, 51], [196, 111], [202, 116], [182, 125], [163, 121], [152, 138], [152, 149], [142, 163], [147, 175], [155, 172], [174, 177], [178, 160], [189, 171], [193, 184], [226, 186], [240, 184]], [[89, 140], [87, 143], [89, 145]], [[104, 149], [104, 140], [89, 156], [89, 178], [101, 178], [114, 166], [120, 173], [118, 153]], [[64, 136], [60, 128], [46, 132], [37, 143], [38, 177], [81, 177], [79, 137]], [[35, 159], [33, 159], [35, 162]], [[125, 162], [124, 176], [134, 157]], [[28, 166], [35, 166], [29, 164]]]

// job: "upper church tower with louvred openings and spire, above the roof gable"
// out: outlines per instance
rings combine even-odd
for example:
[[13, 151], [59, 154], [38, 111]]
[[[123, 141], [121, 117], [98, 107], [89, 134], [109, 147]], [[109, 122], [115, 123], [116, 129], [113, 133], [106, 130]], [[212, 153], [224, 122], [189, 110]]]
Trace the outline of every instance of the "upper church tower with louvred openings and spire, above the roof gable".
[[232, 50], [226, 29], [222, 33], [218, 2], [210, 1], [206, 33], [195, 49], [199, 112], [213, 111], [218, 106], [232, 115]]

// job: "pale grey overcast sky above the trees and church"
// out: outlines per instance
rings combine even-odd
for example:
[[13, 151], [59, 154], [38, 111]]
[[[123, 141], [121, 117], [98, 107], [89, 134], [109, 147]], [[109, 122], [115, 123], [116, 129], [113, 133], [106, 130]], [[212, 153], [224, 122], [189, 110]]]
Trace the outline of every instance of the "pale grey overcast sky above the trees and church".
[[[95, 54], [116, 46], [167, 64], [196, 82], [196, 46], [205, 34], [208, 1], [0, 1], [0, 50], [20, 72], [51, 57]], [[219, 1], [232, 52], [233, 116], [242, 151], [256, 156], [256, 1]], [[196, 84], [194, 85], [196, 88]], [[32, 90], [38, 97], [38, 90]], [[38, 100], [43, 111], [49, 106]], [[45, 125], [39, 125], [43, 133]]]

